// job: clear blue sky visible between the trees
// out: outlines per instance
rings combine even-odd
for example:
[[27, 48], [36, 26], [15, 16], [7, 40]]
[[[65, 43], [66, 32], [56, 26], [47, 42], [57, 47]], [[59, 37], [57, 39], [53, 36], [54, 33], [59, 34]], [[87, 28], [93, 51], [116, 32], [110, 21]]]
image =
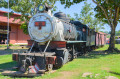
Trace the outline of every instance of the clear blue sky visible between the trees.
[[[87, 3], [91, 3], [91, 6], [93, 8], [96, 6], [96, 4], [94, 4], [92, 2], [92, 0], [87, 0]], [[57, 11], [56, 12], [61, 11], [61, 12], [65, 13], [65, 14], [70, 14], [71, 17], [74, 17], [74, 13], [80, 13], [80, 11], [82, 9], [82, 6], [84, 6], [84, 2], [72, 5], [70, 8], [64, 8], [64, 5], [61, 5], [61, 3], [59, 1], [57, 1], [55, 6], [57, 6]], [[0, 8], [0, 10], [8, 11], [8, 9], [4, 9], [4, 8]], [[110, 31], [109, 25], [105, 24], [104, 27], [105, 27], [105, 29], [103, 31]], [[116, 30], [120, 30], [120, 23], [118, 23]]]

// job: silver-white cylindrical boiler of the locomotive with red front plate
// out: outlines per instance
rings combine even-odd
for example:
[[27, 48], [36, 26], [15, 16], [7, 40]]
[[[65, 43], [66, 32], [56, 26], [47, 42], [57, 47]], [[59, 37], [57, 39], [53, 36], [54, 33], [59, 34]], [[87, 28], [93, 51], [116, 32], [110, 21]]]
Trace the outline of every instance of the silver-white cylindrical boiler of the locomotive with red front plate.
[[[56, 13], [59, 16], [61, 12]], [[48, 13], [37, 13], [34, 15], [28, 25], [29, 35], [31, 40], [39, 43], [46, 43], [47, 41], [65, 41], [75, 40], [77, 31], [73, 24], [60, 20]]]

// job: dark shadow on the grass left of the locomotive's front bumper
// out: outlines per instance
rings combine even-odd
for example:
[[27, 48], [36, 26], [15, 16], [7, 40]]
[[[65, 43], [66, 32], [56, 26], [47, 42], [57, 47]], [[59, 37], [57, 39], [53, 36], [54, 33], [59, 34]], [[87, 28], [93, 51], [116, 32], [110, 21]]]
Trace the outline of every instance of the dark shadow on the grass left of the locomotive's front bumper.
[[16, 65], [15, 61], [8, 62], [8, 63], [2, 63], [0, 64], [0, 72], [3, 72], [5, 70], [11, 70], [13, 66]]

